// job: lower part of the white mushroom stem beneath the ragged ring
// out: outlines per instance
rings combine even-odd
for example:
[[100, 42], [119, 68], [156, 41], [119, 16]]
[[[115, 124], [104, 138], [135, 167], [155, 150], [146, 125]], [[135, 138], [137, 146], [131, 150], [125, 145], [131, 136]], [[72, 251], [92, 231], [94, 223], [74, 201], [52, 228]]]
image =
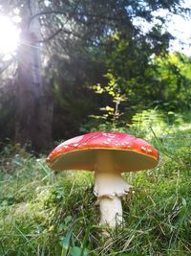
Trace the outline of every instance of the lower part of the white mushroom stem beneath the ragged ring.
[[117, 224], [122, 223], [122, 205], [117, 196], [114, 198], [99, 198], [99, 207], [101, 213], [100, 224], [108, 224], [115, 228]]

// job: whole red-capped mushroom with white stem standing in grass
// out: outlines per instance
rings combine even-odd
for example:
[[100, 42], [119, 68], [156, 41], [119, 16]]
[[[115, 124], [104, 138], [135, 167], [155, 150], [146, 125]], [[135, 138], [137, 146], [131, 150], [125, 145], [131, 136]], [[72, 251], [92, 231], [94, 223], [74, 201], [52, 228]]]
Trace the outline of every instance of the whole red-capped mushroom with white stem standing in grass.
[[142, 139], [121, 132], [92, 132], [58, 145], [48, 156], [53, 170], [95, 171], [94, 193], [100, 207], [100, 224], [122, 222], [121, 198], [132, 187], [121, 173], [152, 169], [159, 152]]

